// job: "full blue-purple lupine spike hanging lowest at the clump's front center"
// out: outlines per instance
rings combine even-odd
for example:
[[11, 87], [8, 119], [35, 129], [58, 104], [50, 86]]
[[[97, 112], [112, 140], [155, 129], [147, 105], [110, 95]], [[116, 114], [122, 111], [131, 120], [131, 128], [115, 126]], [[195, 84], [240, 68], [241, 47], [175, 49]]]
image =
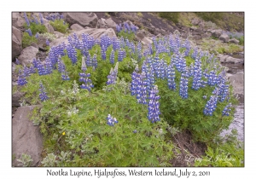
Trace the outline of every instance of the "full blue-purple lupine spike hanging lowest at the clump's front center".
[[160, 121], [159, 115], [160, 115], [160, 96], [158, 94], [158, 87], [157, 85], [154, 85], [152, 90], [149, 91], [148, 96], [148, 120], [152, 123], [155, 123], [157, 121]]

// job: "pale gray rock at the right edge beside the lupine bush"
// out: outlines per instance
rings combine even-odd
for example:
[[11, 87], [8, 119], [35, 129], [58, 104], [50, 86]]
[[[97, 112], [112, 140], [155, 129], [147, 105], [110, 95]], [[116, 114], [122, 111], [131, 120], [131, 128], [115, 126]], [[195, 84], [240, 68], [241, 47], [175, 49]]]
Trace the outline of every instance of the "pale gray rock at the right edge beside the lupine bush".
[[240, 101], [244, 99], [244, 72], [236, 72], [236, 74], [230, 74], [229, 80], [234, 87], [234, 93], [240, 96]]

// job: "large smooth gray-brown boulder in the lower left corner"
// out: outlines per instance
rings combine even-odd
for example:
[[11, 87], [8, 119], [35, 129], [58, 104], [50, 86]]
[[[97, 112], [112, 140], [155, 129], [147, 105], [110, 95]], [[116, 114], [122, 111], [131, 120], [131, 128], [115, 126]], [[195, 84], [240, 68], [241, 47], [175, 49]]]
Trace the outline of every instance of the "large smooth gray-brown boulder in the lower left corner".
[[43, 150], [43, 136], [38, 126], [33, 126], [29, 119], [32, 109], [38, 106], [19, 107], [12, 118], [12, 155], [15, 159], [13, 166], [20, 166], [16, 159], [22, 153], [32, 157], [32, 166], [38, 166]]

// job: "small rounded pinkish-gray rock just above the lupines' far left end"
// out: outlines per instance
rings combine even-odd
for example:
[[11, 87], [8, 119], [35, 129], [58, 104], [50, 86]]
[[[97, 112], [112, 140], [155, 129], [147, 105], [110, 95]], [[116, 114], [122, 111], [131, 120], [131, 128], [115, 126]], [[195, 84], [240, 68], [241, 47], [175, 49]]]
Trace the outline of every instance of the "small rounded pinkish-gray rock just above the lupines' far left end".
[[21, 64], [30, 64], [32, 63], [32, 60], [36, 58], [38, 53], [38, 49], [34, 48], [32, 46], [26, 47], [26, 49], [23, 49], [21, 51], [20, 56], [18, 57]]

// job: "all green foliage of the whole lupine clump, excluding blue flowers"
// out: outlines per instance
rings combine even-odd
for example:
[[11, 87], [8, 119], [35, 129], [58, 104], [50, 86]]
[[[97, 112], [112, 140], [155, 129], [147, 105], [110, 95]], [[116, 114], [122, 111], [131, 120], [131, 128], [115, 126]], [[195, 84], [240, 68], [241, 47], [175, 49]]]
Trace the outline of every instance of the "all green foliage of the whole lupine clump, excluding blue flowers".
[[[79, 49], [77, 64], [72, 64], [68, 55], [61, 57], [70, 80], [63, 81], [61, 73], [53, 70], [49, 75], [31, 74], [26, 78], [27, 84], [20, 87], [21, 92], [26, 92], [21, 101], [42, 106], [34, 109], [32, 120], [44, 135], [43, 166], [170, 166], [171, 136], [180, 130], [189, 130], [196, 141], [211, 143], [230, 125], [235, 108], [232, 107], [229, 117], [222, 117], [222, 111], [229, 102], [236, 105], [232, 88], [230, 101], [218, 102], [212, 117], [207, 117], [203, 109], [214, 86], [192, 90], [192, 78], [189, 78], [189, 98], [183, 100], [178, 94], [181, 75], [177, 71], [176, 91], [168, 89], [166, 80], [156, 79], [160, 90], [160, 122], [150, 123], [147, 105], [137, 103], [130, 93], [131, 73], [136, 65], [142, 66], [145, 58], [137, 60], [137, 54], [130, 54], [125, 47], [126, 56], [119, 61], [117, 82], [106, 86], [110, 69], [114, 67], [109, 62], [112, 49], [108, 47], [105, 61], [99, 45], [89, 50], [90, 57], [96, 55], [97, 59], [96, 69], [87, 66], [86, 70], [94, 84], [91, 91], [79, 88], [83, 56]], [[183, 50], [180, 49], [181, 53]], [[114, 53], [117, 63], [118, 52]], [[159, 57], [170, 64], [171, 58], [166, 53], [160, 53]], [[207, 62], [206, 57], [201, 60], [202, 71], [212, 70], [213, 66], [219, 68], [218, 63]], [[186, 57], [187, 66], [193, 63], [194, 59]], [[49, 97], [47, 101], [40, 101], [40, 83]], [[203, 95], [207, 95], [207, 99], [203, 99]], [[119, 123], [109, 126], [108, 114]]]

